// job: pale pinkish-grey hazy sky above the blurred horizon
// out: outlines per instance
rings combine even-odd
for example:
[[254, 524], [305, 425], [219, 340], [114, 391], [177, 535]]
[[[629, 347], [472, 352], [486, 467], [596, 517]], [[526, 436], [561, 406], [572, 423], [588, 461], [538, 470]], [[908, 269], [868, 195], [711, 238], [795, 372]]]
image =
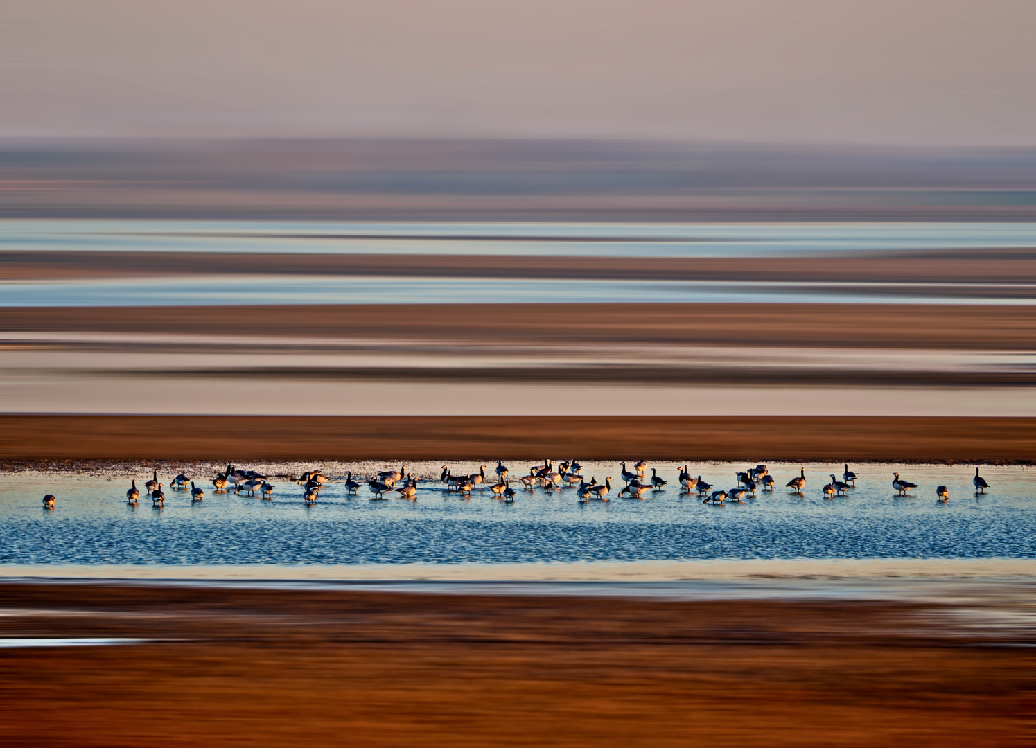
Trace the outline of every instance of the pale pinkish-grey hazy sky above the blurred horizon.
[[0, 0], [0, 137], [1036, 145], [1036, 0]]

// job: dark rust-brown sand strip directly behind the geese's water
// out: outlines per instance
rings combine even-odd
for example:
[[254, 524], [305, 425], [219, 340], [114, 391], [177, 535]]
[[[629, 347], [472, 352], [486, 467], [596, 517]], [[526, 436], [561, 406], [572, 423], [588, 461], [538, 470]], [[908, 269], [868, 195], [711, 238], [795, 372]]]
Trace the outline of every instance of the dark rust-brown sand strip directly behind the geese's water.
[[1029, 464], [1034, 418], [0, 415], [4, 460], [778, 460]]

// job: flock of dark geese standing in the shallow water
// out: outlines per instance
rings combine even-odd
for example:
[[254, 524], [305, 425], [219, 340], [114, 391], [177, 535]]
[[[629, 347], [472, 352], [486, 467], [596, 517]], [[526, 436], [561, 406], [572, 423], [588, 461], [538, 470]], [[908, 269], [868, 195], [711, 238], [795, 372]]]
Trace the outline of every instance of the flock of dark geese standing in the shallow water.
[[[621, 462], [620, 464], [623, 468], [620, 476], [625, 486], [617, 492], [617, 496], [643, 498], [645, 494], [661, 491], [667, 485], [667, 482], [658, 474], [658, 470], [654, 467], [651, 470], [651, 478], [646, 477], [648, 464], [643, 460], [634, 464], [632, 470], [628, 469], [626, 462]], [[511, 482], [509, 481], [511, 470], [507, 465], [498, 461], [495, 473], [496, 483], [489, 485], [489, 477], [486, 476], [485, 465], [481, 466], [479, 472], [460, 474], [453, 473], [448, 465], [443, 465], [439, 480], [445, 484], [447, 490], [465, 497], [470, 496], [471, 492], [477, 488], [488, 487], [494, 497], [507, 502], [514, 501], [515, 490], [511, 487]], [[845, 465], [844, 472], [842, 472], [842, 480], [839, 481], [834, 473], [829, 474], [831, 482], [825, 484], [821, 489], [826, 498], [845, 495], [847, 490], [856, 487], [856, 481], [859, 478], [853, 470], [848, 469], [847, 464]], [[896, 489], [900, 496], [906, 495], [912, 489], [917, 488], [916, 483], [911, 483], [899, 478], [898, 472], [893, 472], [892, 476], [892, 487]], [[770, 474], [769, 468], [762, 464], [736, 472], [735, 477], [738, 479], [736, 487], [713, 490], [714, 486], [712, 484], [701, 480], [701, 476], [691, 476], [687, 470], [687, 465], [685, 465], [680, 470], [678, 481], [681, 493], [696, 493], [698, 497], [702, 498], [703, 504], [741, 501], [747, 495], [754, 496], [756, 490], [759, 489], [773, 491], [776, 484], [776, 480]], [[358, 479], [359, 477], [357, 476], [356, 478]], [[528, 491], [537, 487], [545, 489], [568, 487], [576, 489], [576, 495], [579, 496], [580, 501], [607, 501], [609, 500], [608, 494], [611, 492], [612, 479], [610, 477], [605, 478], [604, 483], [598, 483], [596, 477], [591, 477], [591, 480], [586, 481], [582, 474], [582, 465], [575, 460], [560, 462], [556, 467], [550, 460], [544, 460], [542, 465], [533, 465], [529, 467], [528, 473], [519, 477], [518, 480], [523, 485], [523, 488]], [[295, 483], [298, 486], [303, 486], [303, 500], [309, 505], [317, 500], [320, 489], [330, 483], [330, 479], [322, 470], [307, 470]], [[975, 492], [977, 494], [984, 493], [985, 489], [989, 487], [985, 479], [979, 476], [979, 468], [977, 467], [975, 468], [975, 477], [972, 479], [972, 483], [975, 485]], [[260, 474], [255, 470], [238, 470], [234, 465], [227, 465], [224, 471], [218, 473], [212, 479], [211, 484], [215, 489], [215, 493], [225, 493], [233, 486], [235, 493], [244, 491], [246, 495], [255, 496], [258, 494], [266, 499], [272, 498], [276, 488], [268, 482], [266, 476]], [[354, 479], [352, 472], [349, 471], [341, 485], [345, 486], [346, 492], [349, 495], [355, 495], [365, 484], [370, 492], [374, 494], [374, 499], [384, 498], [386, 494], [393, 492], [398, 493], [401, 498], [409, 500], [414, 500], [418, 495], [418, 479], [412, 473], [406, 471], [405, 464], [398, 470], [380, 470], [377, 474], [370, 478], [364, 477], [362, 480]], [[169, 485], [171, 488], [183, 491], [189, 490], [190, 487], [192, 502], [204, 499], [205, 491], [195, 486], [195, 482], [183, 473], [176, 476]], [[155, 507], [165, 505], [166, 494], [162, 490], [165, 484], [159, 481], [157, 470], [152, 471], [151, 480], [144, 483], [146, 495], [150, 497], [151, 504]], [[806, 487], [806, 469], [801, 468], [799, 474], [788, 481], [785, 487], [790, 488], [793, 493], [802, 495], [803, 489]], [[949, 499], [949, 490], [946, 486], [938, 486], [936, 488], [936, 496], [940, 501], [947, 501]], [[131, 488], [126, 490], [126, 500], [128, 504], [135, 505], [140, 500], [140, 497], [141, 491], [137, 488], [137, 481], [134, 480]], [[55, 504], [54, 494], [49, 493], [44, 496], [44, 507], [47, 509], [53, 509]]]

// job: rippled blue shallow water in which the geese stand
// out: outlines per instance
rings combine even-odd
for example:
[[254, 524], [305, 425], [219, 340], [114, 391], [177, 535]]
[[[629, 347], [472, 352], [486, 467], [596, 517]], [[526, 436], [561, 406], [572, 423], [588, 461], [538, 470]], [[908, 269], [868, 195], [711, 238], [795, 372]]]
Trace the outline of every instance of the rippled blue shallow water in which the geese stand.
[[[729, 487], [735, 468], [710, 464], [692, 471]], [[919, 484], [915, 496], [896, 496], [889, 485], [894, 469]], [[282, 481], [272, 501], [208, 493], [192, 505], [186, 492], [166, 489], [161, 511], [145, 499], [126, 506], [128, 482], [121, 479], [8, 473], [0, 477], [0, 563], [1036, 557], [1032, 468], [983, 468], [992, 489], [976, 498], [968, 467], [865, 465], [859, 471], [866, 477], [848, 496], [825, 499], [824, 473], [833, 470], [807, 465], [810, 483], [802, 497], [778, 488], [720, 507], [671, 487], [643, 501], [614, 497], [613, 490], [610, 502], [588, 505], [571, 490], [519, 491], [513, 505], [505, 505], [488, 491], [464, 500], [432, 482], [415, 502], [372, 501], [366, 488], [348, 497], [332, 484], [306, 507], [299, 488]], [[589, 464], [585, 471], [613, 474], [602, 465]], [[673, 472], [669, 466], [660, 470], [670, 480]], [[797, 473], [774, 469], [780, 485]], [[950, 488], [946, 505], [936, 501], [939, 483]], [[53, 511], [41, 509], [46, 492], [58, 497]]]

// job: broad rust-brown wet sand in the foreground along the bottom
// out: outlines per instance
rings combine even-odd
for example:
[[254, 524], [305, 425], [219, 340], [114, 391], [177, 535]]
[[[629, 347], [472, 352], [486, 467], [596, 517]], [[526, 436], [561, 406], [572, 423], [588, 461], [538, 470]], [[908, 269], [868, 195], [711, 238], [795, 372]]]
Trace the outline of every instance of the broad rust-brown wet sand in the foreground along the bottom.
[[[938, 603], [0, 585], [0, 742], [1030, 746], [1031, 631]], [[970, 611], [981, 621], [981, 610]]]

